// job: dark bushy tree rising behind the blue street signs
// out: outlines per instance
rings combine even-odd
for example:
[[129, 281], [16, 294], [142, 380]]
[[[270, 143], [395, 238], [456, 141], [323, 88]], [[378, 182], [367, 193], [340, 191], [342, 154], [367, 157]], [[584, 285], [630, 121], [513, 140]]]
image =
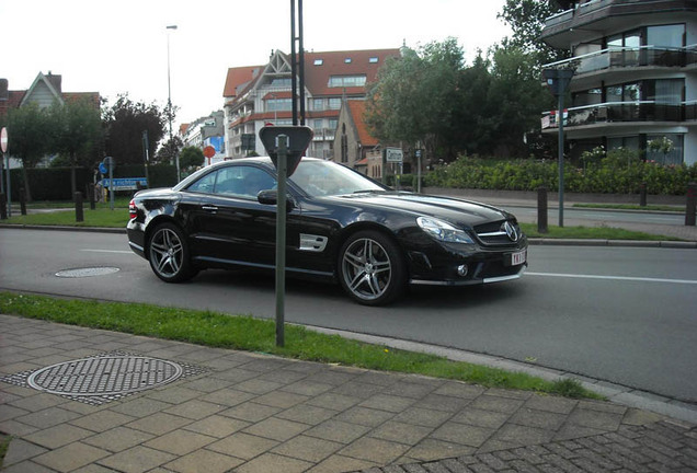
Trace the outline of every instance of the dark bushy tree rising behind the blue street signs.
[[142, 132], [148, 131], [148, 155], [153, 157], [164, 136], [165, 116], [157, 105], [133, 102], [128, 94], [118, 95], [104, 113], [105, 151], [117, 164], [144, 162]]

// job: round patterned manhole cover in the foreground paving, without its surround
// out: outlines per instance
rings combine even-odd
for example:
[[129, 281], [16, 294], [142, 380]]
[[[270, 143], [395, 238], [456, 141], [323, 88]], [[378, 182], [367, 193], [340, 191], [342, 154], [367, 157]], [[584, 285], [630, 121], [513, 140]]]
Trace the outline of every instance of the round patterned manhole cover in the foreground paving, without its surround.
[[172, 361], [148, 357], [102, 357], [66, 361], [34, 371], [30, 387], [68, 396], [127, 394], [161, 384], [182, 376]]

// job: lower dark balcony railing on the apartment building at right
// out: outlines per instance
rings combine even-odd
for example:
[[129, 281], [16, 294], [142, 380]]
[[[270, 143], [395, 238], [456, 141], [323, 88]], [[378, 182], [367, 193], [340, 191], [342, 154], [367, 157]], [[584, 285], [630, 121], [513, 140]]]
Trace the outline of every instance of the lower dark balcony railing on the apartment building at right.
[[[564, 115], [564, 126], [569, 127], [622, 122], [690, 122], [697, 120], [697, 102], [609, 102], [568, 108]], [[555, 112], [542, 113], [542, 129], [558, 126]]]

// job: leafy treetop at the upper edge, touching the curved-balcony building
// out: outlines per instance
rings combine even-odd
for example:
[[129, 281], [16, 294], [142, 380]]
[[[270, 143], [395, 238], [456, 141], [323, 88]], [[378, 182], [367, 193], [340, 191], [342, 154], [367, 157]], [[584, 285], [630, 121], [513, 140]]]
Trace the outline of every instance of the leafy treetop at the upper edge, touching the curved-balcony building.
[[553, 0], [506, 0], [499, 18], [511, 26], [513, 36], [504, 38], [503, 46], [533, 55], [538, 67], [569, 57], [569, 51], [555, 49], [539, 38], [545, 20], [560, 10]]

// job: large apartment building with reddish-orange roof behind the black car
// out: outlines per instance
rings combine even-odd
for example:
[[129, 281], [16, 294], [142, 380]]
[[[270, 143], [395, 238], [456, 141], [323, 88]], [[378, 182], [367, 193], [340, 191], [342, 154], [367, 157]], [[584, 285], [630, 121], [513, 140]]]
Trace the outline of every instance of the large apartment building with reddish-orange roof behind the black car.
[[[305, 53], [305, 125], [315, 137], [307, 155], [332, 159], [342, 105], [364, 100], [366, 84], [399, 49]], [[228, 69], [224, 89], [227, 158], [266, 154], [259, 130], [266, 124], [293, 125], [292, 58], [276, 50], [268, 62]], [[298, 105], [298, 109], [299, 109]]]

